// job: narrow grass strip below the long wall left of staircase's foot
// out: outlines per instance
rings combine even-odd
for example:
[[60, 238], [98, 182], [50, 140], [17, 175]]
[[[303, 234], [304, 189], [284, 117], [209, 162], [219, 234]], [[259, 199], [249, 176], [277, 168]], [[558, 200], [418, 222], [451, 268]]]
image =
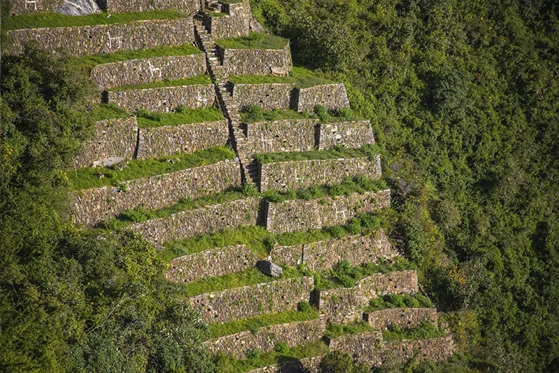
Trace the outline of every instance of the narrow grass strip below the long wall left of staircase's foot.
[[240, 189], [231, 188], [225, 192], [212, 193], [196, 199], [185, 198], [181, 202], [166, 206], [163, 209], [146, 210], [142, 207], [136, 207], [136, 209], [124, 211], [124, 213], [121, 213], [116, 218], [106, 221], [103, 223], [103, 226], [109, 230], [116, 230], [133, 223], [140, 223], [155, 218], [168, 218], [173, 215], [173, 213], [200, 209], [201, 207], [210, 206], [212, 204], [222, 204], [224, 202], [230, 202], [243, 197], [245, 196], [242, 194]]

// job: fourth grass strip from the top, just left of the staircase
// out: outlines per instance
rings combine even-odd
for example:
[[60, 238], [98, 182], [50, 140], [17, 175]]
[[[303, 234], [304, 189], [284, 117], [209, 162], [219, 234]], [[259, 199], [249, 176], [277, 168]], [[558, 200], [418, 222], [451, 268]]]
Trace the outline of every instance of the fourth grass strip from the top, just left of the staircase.
[[136, 111], [140, 128], [189, 125], [191, 123], [215, 122], [224, 120], [222, 111], [211, 108], [178, 108], [173, 113], [151, 113], [147, 110]]

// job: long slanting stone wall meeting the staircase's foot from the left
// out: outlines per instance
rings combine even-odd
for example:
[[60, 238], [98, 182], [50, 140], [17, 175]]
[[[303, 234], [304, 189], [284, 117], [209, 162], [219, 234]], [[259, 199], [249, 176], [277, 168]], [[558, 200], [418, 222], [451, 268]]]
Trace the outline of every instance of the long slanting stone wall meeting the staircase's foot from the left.
[[183, 198], [198, 198], [238, 186], [239, 164], [229, 161], [138, 178], [119, 187], [82, 190], [74, 199], [74, 223], [92, 227], [138, 206], [161, 209]]

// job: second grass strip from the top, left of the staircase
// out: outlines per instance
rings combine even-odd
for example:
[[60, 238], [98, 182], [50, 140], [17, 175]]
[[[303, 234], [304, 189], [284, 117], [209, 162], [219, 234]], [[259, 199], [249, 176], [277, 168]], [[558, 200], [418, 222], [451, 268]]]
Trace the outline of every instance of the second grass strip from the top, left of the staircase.
[[91, 71], [91, 69], [93, 69], [96, 65], [109, 64], [110, 62], [121, 62], [128, 59], [147, 59], [153, 57], [196, 55], [201, 52], [201, 50], [191, 44], [184, 44], [176, 47], [161, 46], [152, 49], [120, 51], [115, 53], [107, 53], [104, 55], [75, 57], [71, 59], [71, 64], [78, 69]]

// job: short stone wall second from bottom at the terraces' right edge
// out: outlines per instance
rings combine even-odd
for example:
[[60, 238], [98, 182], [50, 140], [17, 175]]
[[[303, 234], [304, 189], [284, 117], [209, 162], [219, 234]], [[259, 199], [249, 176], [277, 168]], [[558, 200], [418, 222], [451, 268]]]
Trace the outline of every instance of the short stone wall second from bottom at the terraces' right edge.
[[363, 314], [363, 321], [376, 330], [383, 330], [391, 325], [409, 329], [423, 321], [430, 321], [437, 325], [438, 318], [437, 310], [434, 308], [389, 308]]

